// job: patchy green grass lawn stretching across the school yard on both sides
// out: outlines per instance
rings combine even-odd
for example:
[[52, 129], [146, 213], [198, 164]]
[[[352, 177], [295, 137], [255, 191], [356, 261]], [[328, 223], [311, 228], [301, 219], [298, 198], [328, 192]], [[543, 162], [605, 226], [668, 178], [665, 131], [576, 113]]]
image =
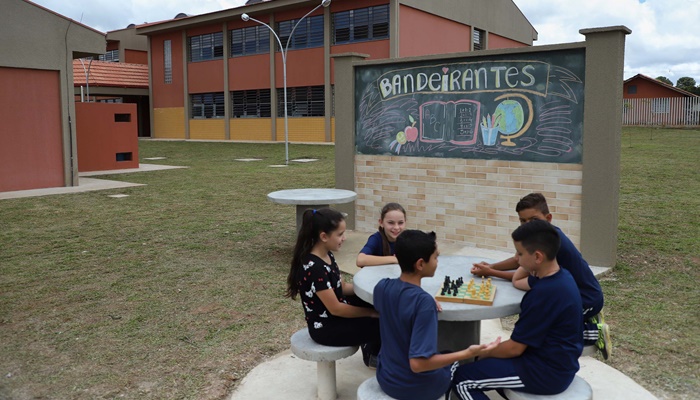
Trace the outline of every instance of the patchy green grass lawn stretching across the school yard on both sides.
[[[698, 146], [700, 131], [623, 134], [618, 265], [601, 280], [609, 362], [660, 398], [700, 393]], [[282, 296], [294, 207], [265, 196], [333, 187], [334, 148], [292, 145], [319, 161], [287, 168], [268, 167], [283, 144], [139, 151], [189, 168], [0, 201], [0, 399], [224, 399], [304, 325]]]

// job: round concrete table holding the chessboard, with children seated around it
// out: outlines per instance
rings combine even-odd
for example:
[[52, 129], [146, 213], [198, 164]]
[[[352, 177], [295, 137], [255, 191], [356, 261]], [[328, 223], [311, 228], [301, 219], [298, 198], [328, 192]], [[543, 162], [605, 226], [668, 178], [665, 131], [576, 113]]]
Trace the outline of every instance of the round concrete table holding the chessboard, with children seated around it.
[[[480, 261], [495, 262], [483, 257], [440, 256], [435, 276], [423, 278], [421, 286], [423, 290], [435, 297], [442, 287], [445, 275], [449, 275], [453, 280], [461, 276], [466, 282], [474, 278], [478, 283], [481, 278], [472, 275], [469, 271], [473, 263]], [[399, 275], [401, 275], [401, 268], [397, 264], [364, 267], [353, 278], [355, 294], [362, 300], [373, 303], [374, 286], [384, 278], [398, 278]], [[491, 306], [440, 303], [442, 312], [438, 313], [439, 351], [456, 351], [479, 343], [481, 320], [501, 318], [520, 312], [520, 300], [525, 292], [514, 288], [510, 281], [491, 278], [491, 282], [497, 288], [496, 297]]]

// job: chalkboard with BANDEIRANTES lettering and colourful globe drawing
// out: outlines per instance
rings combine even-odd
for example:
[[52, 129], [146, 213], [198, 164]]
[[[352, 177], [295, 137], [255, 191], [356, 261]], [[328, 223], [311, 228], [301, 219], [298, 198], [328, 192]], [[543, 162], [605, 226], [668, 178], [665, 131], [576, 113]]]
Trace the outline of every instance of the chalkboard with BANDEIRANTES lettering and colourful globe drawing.
[[355, 68], [358, 154], [581, 163], [583, 49]]

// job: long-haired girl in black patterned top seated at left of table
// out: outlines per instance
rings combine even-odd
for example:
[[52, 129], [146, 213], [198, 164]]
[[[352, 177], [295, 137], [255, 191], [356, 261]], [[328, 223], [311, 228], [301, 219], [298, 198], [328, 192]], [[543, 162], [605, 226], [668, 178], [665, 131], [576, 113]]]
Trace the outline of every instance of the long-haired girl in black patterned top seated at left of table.
[[333, 251], [345, 241], [343, 215], [306, 210], [287, 277], [286, 296], [301, 297], [311, 338], [325, 346], [362, 346], [365, 365], [376, 368], [379, 313], [343, 282]]

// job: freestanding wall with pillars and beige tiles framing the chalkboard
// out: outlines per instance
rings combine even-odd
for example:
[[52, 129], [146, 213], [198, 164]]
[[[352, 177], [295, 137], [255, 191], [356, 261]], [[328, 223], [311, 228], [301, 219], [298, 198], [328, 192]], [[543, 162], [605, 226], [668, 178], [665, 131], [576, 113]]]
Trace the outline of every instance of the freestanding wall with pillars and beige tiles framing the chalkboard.
[[[556, 224], [579, 246], [586, 259], [593, 265], [613, 266], [624, 41], [631, 32], [625, 27], [580, 32], [586, 36], [584, 43], [480, 53], [488, 56], [585, 50], [580, 164], [356, 154], [354, 69], [382, 62], [360, 62], [362, 56], [358, 54], [336, 56], [336, 109], [353, 110], [336, 115], [336, 187], [358, 193], [355, 205], [350, 206], [350, 229], [376, 229], [381, 206], [398, 201], [406, 203], [412, 228], [435, 230], [441, 240], [511, 251], [509, 235], [518, 223], [515, 204], [527, 193], [543, 192], [551, 203]], [[460, 59], [466, 56], [463, 54]], [[410, 60], [447, 63], [450, 58]], [[397, 60], [391, 62], [398, 65]], [[403, 172], [407, 169], [410, 176]]]

